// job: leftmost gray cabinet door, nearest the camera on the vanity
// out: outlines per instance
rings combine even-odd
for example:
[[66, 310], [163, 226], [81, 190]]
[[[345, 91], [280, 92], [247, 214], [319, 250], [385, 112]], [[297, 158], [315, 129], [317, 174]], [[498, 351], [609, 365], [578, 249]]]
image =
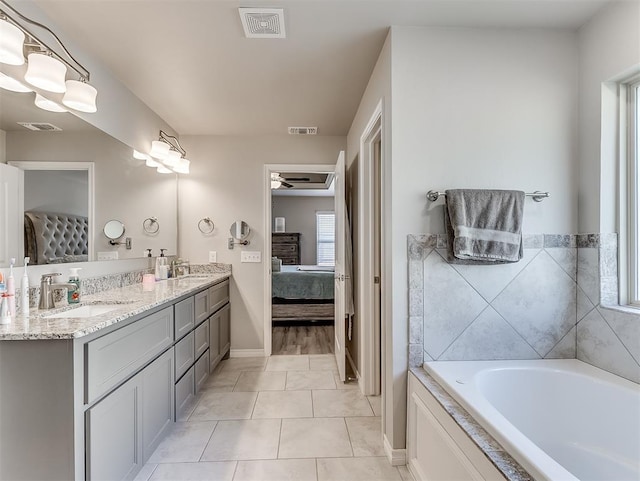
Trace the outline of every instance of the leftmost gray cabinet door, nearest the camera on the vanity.
[[144, 464], [141, 391], [135, 376], [87, 411], [88, 481], [130, 479]]

